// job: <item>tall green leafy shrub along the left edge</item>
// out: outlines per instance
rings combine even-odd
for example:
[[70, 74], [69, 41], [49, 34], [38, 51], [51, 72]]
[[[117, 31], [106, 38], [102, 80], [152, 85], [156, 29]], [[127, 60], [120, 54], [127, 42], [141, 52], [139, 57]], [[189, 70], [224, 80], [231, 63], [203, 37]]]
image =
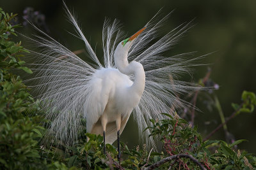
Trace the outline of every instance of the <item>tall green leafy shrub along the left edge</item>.
[[18, 25], [10, 24], [15, 16], [0, 8], [0, 169], [68, 169], [63, 163], [42, 159], [42, 117], [34, 112], [37, 106], [20, 76], [12, 73], [13, 69], [32, 73], [20, 60], [28, 51], [10, 38], [17, 36]]

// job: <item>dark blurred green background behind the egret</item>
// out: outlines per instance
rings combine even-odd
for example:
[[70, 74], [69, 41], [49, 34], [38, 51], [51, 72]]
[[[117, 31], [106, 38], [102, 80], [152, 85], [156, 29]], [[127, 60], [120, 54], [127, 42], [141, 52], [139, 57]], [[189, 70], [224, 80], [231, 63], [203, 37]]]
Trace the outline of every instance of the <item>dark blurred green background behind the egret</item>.
[[[211, 79], [220, 89], [218, 95], [225, 117], [233, 112], [231, 103], [240, 103], [243, 90], [256, 92], [256, 1], [66, 1], [68, 8], [74, 9], [83, 28], [86, 38], [92, 46], [97, 46], [96, 53], [102, 55], [102, 25], [105, 17], [118, 18], [124, 25], [124, 31], [130, 36], [145, 25], [157, 11], [163, 7], [163, 13], [175, 10], [163, 31], [174, 29], [183, 22], [193, 20], [195, 26], [190, 29], [180, 43], [166, 55], [197, 51], [195, 56], [212, 53], [202, 60], [210, 64]], [[18, 13], [19, 23], [26, 8], [31, 7], [43, 15], [41, 29], [48, 32], [70, 50], [83, 48], [83, 42], [67, 33], [72, 26], [65, 18], [62, 1], [49, 0], [9, 0], [2, 1], [0, 6], [8, 13]], [[23, 23], [26, 24], [26, 23]], [[31, 28], [24, 26], [17, 31], [31, 36]], [[73, 31], [74, 32], [74, 31]], [[26, 43], [23, 43], [25, 48]], [[191, 81], [198, 81], [207, 73], [208, 66], [195, 67]], [[191, 79], [191, 78], [190, 78]], [[188, 79], [189, 80], [189, 79]], [[220, 117], [217, 110], [211, 112], [204, 103], [197, 105], [201, 110], [196, 113], [195, 124], [202, 136], [211, 132], [218, 124]], [[241, 148], [256, 153], [256, 115], [239, 115], [228, 122], [228, 131], [236, 139], [248, 139]], [[132, 137], [132, 138], [131, 138]], [[129, 146], [138, 144], [136, 124], [129, 120], [122, 134], [122, 141]], [[223, 130], [214, 134], [214, 139], [225, 139]]]

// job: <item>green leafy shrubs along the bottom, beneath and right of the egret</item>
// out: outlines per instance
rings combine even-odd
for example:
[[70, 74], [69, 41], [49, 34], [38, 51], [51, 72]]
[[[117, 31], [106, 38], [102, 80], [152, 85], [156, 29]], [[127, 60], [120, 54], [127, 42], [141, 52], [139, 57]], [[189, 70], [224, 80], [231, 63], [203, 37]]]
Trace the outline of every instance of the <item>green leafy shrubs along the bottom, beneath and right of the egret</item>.
[[[225, 141], [202, 141], [202, 137], [188, 123], [168, 114], [164, 120], [151, 120], [152, 126], [149, 138], [158, 138], [159, 152], [148, 152], [147, 146], [137, 146], [129, 149], [121, 143], [122, 159], [118, 162], [116, 148], [106, 145], [106, 155], [103, 154], [103, 138], [100, 135], [84, 134], [77, 145], [63, 150], [51, 148], [51, 159], [63, 162], [67, 167], [78, 169], [143, 169], [159, 160], [172, 155], [186, 153], [192, 155], [206, 169], [253, 169], [256, 167], [256, 157], [245, 151], [237, 150], [237, 145], [246, 140], [237, 140], [227, 144]], [[168, 117], [168, 118], [167, 118]], [[86, 137], [90, 138], [88, 142]], [[170, 167], [170, 165], [172, 165]], [[159, 166], [159, 169], [200, 169], [191, 159], [180, 158]]]

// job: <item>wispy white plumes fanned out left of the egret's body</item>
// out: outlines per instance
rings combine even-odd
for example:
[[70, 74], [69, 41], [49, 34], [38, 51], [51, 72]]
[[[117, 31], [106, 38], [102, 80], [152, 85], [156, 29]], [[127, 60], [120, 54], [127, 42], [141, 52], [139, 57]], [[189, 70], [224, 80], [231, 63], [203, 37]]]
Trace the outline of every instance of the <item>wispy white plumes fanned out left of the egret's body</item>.
[[[65, 46], [36, 28], [42, 36], [30, 40], [40, 52], [31, 51], [29, 67], [33, 77], [25, 80], [37, 95], [46, 111], [45, 117], [51, 120], [47, 136], [53, 136], [66, 145], [72, 145], [79, 137], [83, 118], [88, 117], [88, 104], [92, 87], [89, 83], [100, 64], [87, 39], [79, 29], [75, 18], [67, 10], [70, 22], [84, 41], [87, 55], [95, 64], [90, 64], [72, 53]], [[102, 101], [102, 107], [106, 102]], [[102, 110], [102, 107], [98, 108]]]

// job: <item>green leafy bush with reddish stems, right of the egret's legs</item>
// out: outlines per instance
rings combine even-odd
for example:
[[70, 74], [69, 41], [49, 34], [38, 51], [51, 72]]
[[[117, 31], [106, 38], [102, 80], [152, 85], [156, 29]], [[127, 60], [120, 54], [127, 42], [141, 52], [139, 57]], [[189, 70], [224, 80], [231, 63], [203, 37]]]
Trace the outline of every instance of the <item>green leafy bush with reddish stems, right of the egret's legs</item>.
[[[153, 136], [159, 136], [164, 143], [164, 157], [168, 155], [177, 155], [180, 153], [187, 153], [193, 155], [202, 165], [207, 169], [253, 169], [256, 167], [256, 157], [243, 151], [242, 153], [234, 148], [239, 143], [246, 140], [238, 140], [228, 145], [225, 141], [205, 141], [196, 128], [191, 128], [186, 121], [176, 117], [172, 118], [170, 115], [165, 114], [169, 118], [155, 122], [152, 120]], [[167, 154], [166, 154], [167, 153]], [[155, 156], [154, 159], [160, 160], [163, 155]], [[176, 163], [170, 169], [179, 169], [180, 164], [185, 169], [198, 168], [191, 160], [175, 160]], [[166, 168], [170, 166], [162, 166]]]

